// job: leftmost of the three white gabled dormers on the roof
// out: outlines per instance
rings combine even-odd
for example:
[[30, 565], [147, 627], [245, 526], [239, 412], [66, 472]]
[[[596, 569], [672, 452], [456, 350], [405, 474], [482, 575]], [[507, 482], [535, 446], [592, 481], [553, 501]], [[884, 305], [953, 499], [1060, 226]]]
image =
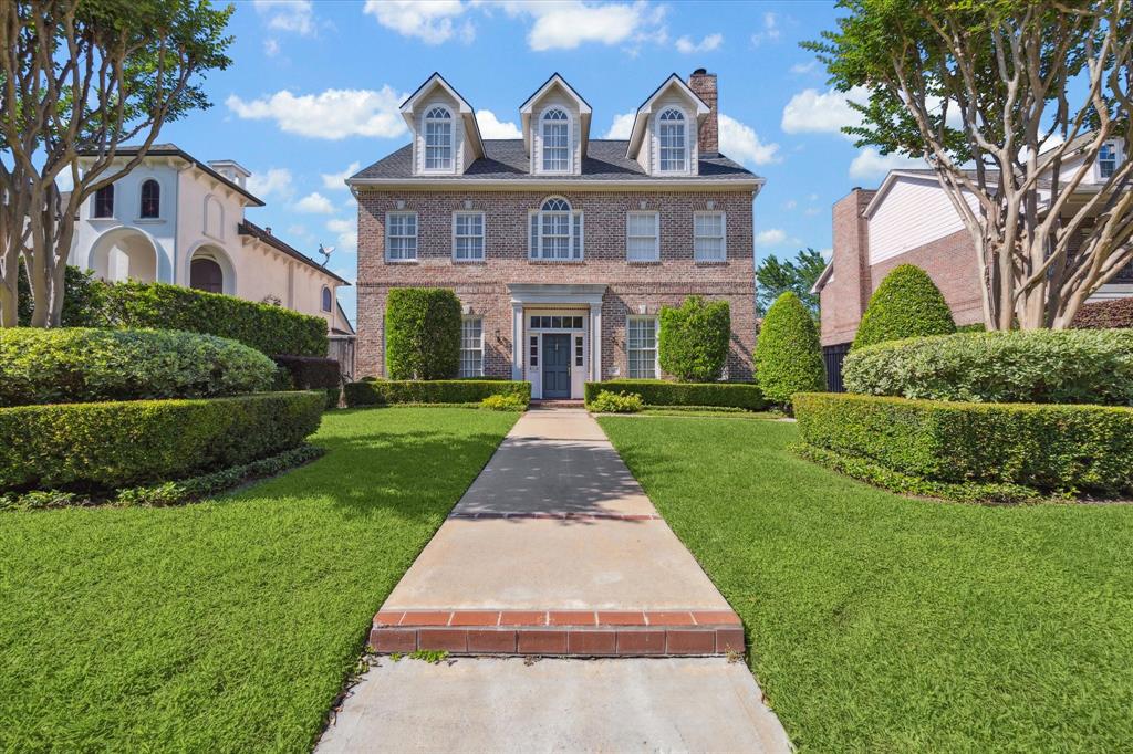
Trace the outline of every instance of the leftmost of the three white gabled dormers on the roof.
[[401, 117], [414, 137], [415, 175], [462, 175], [484, 156], [472, 106], [440, 74], [409, 95]]

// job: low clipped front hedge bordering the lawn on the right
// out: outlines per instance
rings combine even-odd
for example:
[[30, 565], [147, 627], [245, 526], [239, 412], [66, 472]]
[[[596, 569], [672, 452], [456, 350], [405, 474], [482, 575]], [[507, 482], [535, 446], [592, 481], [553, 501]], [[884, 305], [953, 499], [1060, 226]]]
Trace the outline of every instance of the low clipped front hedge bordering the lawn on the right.
[[799, 394], [794, 409], [808, 445], [902, 474], [1043, 492], [1133, 492], [1133, 409], [833, 393]]

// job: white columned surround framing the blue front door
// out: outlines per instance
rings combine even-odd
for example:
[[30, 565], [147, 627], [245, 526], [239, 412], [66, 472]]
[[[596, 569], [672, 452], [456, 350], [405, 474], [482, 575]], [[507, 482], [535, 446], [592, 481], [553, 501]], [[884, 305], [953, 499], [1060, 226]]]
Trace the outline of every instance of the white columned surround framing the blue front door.
[[[571, 336], [570, 397], [581, 400], [585, 384], [602, 378], [605, 284], [509, 283], [508, 291], [511, 293], [511, 378], [527, 379], [531, 383], [531, 397], [542, 399], [543, 335], [566, 333]], [[533, 322], [533, 317], [539, 319]]]

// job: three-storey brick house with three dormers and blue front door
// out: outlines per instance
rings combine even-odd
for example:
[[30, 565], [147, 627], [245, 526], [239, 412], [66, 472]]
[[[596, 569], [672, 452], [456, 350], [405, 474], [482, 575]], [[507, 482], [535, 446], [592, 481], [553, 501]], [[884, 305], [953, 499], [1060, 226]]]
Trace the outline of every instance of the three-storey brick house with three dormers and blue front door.
[[526, 379], [536, 399], [662, 376], [658, 310], [692, 294], [729, 301], [726, 375], [750, 379], [764, 180], [719, 154], [716, 102], [715, 75], [673, 75], [628, 140], [591, 139], [590, 105], [555, 74], [520, 106], [522, 138], [484, 139], [431, 76], [401, 106], [411, 143], [347, 181], [359, 374], [385, 374], [387, 291], [443, 286], [463, 305], [461, 375]]

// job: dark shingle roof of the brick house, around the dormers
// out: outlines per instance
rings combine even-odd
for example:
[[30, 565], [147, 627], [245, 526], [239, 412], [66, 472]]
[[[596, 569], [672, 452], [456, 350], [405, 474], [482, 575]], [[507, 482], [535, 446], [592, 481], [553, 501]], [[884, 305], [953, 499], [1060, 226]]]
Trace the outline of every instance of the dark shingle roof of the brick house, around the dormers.
[[[625, 156], [629, 142], [624, 139], [591, 139], [582, 160], [581, 175], [531, 174], [530, 160], [522, 139], [484, 139], [484, 157], [477, 160], [463, 175], [414, 175], [412, 145], [407, 144], [373, 165], [355, 173], [350, 180], [366, 179], [449, 179], [454, 182], [468, 179], [513, 179], [517, 181], [546, 181], [553, 178], [564, 182], [577, 180], [689, 180], [697, 177], [649, 175], [636, 161]], [[743, 165], [724, 155], [700, 157], [700, 178], [747, 179], [758, 178]]]

